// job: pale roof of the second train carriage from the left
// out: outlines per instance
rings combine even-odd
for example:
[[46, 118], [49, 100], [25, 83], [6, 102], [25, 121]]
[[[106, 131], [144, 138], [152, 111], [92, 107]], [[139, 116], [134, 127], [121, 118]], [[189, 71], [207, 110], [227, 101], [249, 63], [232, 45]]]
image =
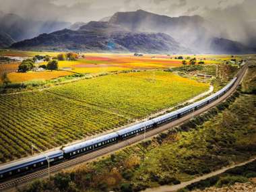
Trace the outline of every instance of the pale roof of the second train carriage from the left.
[[67, 146], [67, 147], [63, 148], [63, 152], [65, 152], [65, 153], [73, 152], [75, 150], [79, 150], [81, 148], [86, 148], [88, 146], [92, 146], [96, 143], [100, 143], [102, 141], [106, 141], [108, 139], [112, 139], [112, 138], [118, 137], [118, 136], [119, 135], [117, 133], [109, 133], [109, 134], [106, 134], [106, 135], [102, 135], [102, 136], [96, 137], [94, 139], [90, 139], [90, 140], [87, 140], [87, 141], [83, 141], [83, 142], [80, 142], [80, 143], [73, 144], [71, 146]]

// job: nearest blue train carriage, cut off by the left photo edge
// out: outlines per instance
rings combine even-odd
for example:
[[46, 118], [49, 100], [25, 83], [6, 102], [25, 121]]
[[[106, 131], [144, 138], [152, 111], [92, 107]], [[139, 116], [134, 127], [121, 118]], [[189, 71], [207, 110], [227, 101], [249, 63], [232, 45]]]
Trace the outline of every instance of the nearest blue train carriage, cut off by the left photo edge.
[[[61, 150], [48, 152], [44, 155], [49, 157], [50, 164], [55, 164], [64, 159], [63, 152]], [[46, 157], [44, 155], [41, 154], [38, 156], [25, 158], [24, 160], [18, 160], [0, 166], [0, 180], [5, 180], [10, 177], [22, 175], [27, 172], [32, 172], [34, 170], [38, 170], [39, 168], [48, 166], [48, 161], [46, 160]]]

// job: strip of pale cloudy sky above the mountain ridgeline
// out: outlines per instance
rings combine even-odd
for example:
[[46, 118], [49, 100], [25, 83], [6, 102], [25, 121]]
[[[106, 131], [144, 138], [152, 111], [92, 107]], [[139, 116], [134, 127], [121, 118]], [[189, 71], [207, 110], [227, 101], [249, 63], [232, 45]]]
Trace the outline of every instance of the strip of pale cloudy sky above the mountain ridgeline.
[[[0, 0], [0, 11], [35, 20], [72, 23], [100, 20], [117, 11], [137, 9], [171, 17], [203, 15], [214, 18], [229, 9], [243, 9], [243, 12], [247, 12], [245, 5], [253, 1], [256, 0]], [[252, 12], [246, 19], [256, 21], [256, 11]]]

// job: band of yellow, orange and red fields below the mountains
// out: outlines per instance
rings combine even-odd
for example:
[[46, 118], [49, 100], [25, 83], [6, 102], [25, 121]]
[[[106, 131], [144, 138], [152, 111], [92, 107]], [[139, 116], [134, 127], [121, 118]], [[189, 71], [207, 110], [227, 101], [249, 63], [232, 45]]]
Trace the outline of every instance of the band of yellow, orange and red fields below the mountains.
[[[5, 51], [0, 52], [0, 55], [6, 57], [21, 57], [24, 59], [32, 58], [35, 55], [49, 55], [54, 58], [59, 53], [55, 52], [26, 52], [26, 51]], [[107, 54], [107, 53], [81, 53], [83, 56], [76, 61], [59, 61], [59, 69], [64, 71], [70, 71], [73, 73], [108, 73], [115, 71], [131, 71], [137, 69], [168, 69], [172, 67], [181, 67], [183, 59], [178, 59], [177, 55], [143, 55], [142, 57], [135, 57], [133, 54]], [[187, 63], [189, 59], [196, 57], [197, 63], [203, 61], [205, 65], [221, 64], [226, 60], [232, 59], [231, 55], [183, 55], [183, 58]], [[233, 57], [233, 59], [241, 59], [240, 57]], [[47, 63], [38, 63], [39, 65], [46, 65]], [[4, 66], [5, 69], [0, 69], [0, 73], [10, 73], [18, 69], [18, 64], [9, 64]], [[11, 68], [12, 67], [12, 68]], [[11, 69], [9, 69], [11, 68]], [[52, 75], [51, 75], [52, 73]], [[55, 79], [62, 76], [64, 73], [49, 72], [47, 75], [40, 73], [30, 73], [28, 75], [21, 75], [20, 73], [11, 73], [8, 75], [10, 82], [24, 82], [30, 80], [37, 80], [38, 75], [40, 79]], [[1, 75], [0, 74], [0, 75]], [[70, 73], [65, 73], [69, 75]], [[26, 77], [28, 76], [28, 77]], [[45, 78], [44, 78], [45, 77]]]

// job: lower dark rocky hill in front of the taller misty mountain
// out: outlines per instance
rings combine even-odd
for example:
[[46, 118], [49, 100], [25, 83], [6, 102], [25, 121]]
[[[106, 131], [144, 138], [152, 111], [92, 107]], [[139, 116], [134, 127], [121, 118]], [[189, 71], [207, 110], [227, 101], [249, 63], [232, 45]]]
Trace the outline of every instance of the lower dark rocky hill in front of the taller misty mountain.
[[[100, 30], [98, 25], [100, 24]], [[105, 26], [105, 28], [104, 28]], [[55, 51], [111, 51], [143, 53], [190, 53], [171, 36], [162, 33], [108, 30], [104, 22], [90, 23], [80, 30], [60, 30], [17, 42], [14, 49], [44, 49]]]

